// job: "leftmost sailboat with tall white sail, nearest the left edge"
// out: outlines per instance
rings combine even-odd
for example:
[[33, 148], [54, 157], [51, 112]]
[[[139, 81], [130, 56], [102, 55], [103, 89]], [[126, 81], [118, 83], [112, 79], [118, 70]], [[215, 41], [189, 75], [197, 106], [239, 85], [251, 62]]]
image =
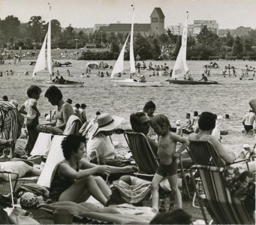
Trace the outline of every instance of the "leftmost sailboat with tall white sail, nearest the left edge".
[[[49, 4], [50, 5], [50, 4]], [[51, 6], [50, 6], [51, 10]], [[46, 49], [47, 49], [47, 56], [46, 56]], [[50, 74], [50, 80], [47, 81], [35, 81], [35, 75], [39, 71], [44, 71], [48, 70]], [[48, 29], [47, 29], [47, 34], [44, 37], [44, 42], [43, 45], [41, 46], [41, 50], [38, 55], [38, 60], [35, 63], [35, 68], [32, 74], [33, 77], [33, 82], [38, 84], [38, 86], [57, 86], [59, 88], [61, 87], [82, 87], [83, 82], [76, 82], [76, 81], [71, 81], [71, 80], [62, 80], [62, 83], [53, 83], [52, 80], [52, 55], [51, 55], [51, 19], [50, 19], [50, 13], [49, 13], [49, 23], [48, 23]]]

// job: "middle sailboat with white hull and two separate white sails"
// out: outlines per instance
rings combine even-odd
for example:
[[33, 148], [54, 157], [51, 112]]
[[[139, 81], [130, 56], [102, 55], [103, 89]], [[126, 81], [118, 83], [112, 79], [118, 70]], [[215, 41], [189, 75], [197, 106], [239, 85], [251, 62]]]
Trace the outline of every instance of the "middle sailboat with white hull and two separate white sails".
[[[131, 5], [133, 7], [133, 5]], [[113, 79], [114, 74], [122, 74], [124, 71], [124, 57], [125, 57], [125, 47], [130, 37], [130, 71], [131, 75], [136, 73], [135, 60], [134, 60], [134, 7], [133, 7], [133, 16], [131, 22], [131, 33], [128, 34], [128, 37], [125, 40], [122, 50], [119, 54], [119, 57], [116, 60], [116, 64], [111, 73], [111, 78]], [[125, 79], [125, 80], [110, 80], [116, 83], [117, 86], [134, 86], [134, 87], [146, 87], [146, 86], [164, 86], [163, 83], [157, 82], [141, 82], [136, 79]]]

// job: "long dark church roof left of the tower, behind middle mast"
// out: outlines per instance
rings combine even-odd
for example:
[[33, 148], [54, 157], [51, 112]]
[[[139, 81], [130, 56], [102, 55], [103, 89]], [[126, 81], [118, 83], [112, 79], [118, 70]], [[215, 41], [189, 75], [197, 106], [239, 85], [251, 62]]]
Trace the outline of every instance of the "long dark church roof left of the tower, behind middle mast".
[[[134, 31], [150, 31], [150, 23], [134, 23]], [[101, 26], [100, 31], [131, 31], [131, 23], [110, 23], [109, 26]]]

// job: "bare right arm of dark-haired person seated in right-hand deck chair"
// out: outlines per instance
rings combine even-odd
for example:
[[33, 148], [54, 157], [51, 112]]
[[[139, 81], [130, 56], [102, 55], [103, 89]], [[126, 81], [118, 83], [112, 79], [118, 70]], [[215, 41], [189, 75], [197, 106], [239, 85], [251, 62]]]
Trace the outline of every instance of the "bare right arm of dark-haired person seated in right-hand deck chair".
[[224, 145], [222, 145], [215, 136], [210, 136], [209, 142], [212, 143], [221, 159], [226, 163], [233, 163], [234, 160], [236, 160], [236, 155], [232, 151], [227, 151], [227, 149], [224, 148]]

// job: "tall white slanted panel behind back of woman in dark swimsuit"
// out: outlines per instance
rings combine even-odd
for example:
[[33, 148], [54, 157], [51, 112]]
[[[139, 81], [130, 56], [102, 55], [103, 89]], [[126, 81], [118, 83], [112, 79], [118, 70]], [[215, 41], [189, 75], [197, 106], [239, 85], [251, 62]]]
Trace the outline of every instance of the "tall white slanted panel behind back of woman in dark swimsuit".
[[52, 176], [53, 169], [55, 168], [57, 163], [65, 159], [65, 157], [63, 156], [62, 146], [61, 146], [62, 140], [64, 138], [65, 136], [61, 136], [61, 135], [53, 136], [47, 161], [44, 165], [44, 169], [41, 172], [41, 175], [38, 179], [37, 184], [44, 187], [50, 187], [50, 178]]

